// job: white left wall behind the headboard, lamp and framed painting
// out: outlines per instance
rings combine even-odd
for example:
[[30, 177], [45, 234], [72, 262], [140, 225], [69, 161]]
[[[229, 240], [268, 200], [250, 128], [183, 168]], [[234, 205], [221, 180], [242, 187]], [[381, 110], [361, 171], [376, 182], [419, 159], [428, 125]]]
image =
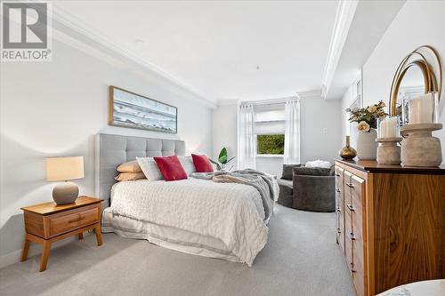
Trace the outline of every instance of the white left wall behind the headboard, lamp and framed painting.
[[[0, 265], [19, 259], [20, 206], [52, 200], [54, 184], [44, 180], [45, 157], [84, 156], [85, 179], [76, 183], [80, 194], [93, 195], [93, 135], [98, 132], [181, 139], [189, 152], [213, 152], [211, 108], [124, 58], [113, 64], [104, 60], [110, 59], [54, 40], [52, 62], [1, 64]], [[178, 107], [178, 133], [108, 126], [110, 84]]]

